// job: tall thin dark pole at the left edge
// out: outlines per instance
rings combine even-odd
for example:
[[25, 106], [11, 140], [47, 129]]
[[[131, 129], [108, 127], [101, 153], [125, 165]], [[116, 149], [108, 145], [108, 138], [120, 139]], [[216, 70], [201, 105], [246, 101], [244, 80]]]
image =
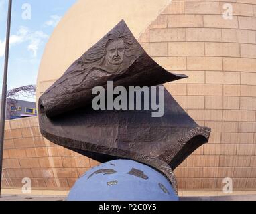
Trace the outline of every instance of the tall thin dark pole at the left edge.
[[7, 72], [9, 61], [9, 43], [10, 43], [10, 30], [11, 30], [11, 5], [12, 0], [9, 0], [8, 17], [7, 17], [7, 31], [6, 31], [6, 44], [5, 44], [5, 68], [3, 72], [3, 89], [2, 89], [2, 102], [1, 102], [1, 118], [0, 118], [0, 197], [1, 197], [1, 183], [2, 183], [2, 168], [3, 168], [3, 139], [5, 134], [5, 106], [7, 94]]

